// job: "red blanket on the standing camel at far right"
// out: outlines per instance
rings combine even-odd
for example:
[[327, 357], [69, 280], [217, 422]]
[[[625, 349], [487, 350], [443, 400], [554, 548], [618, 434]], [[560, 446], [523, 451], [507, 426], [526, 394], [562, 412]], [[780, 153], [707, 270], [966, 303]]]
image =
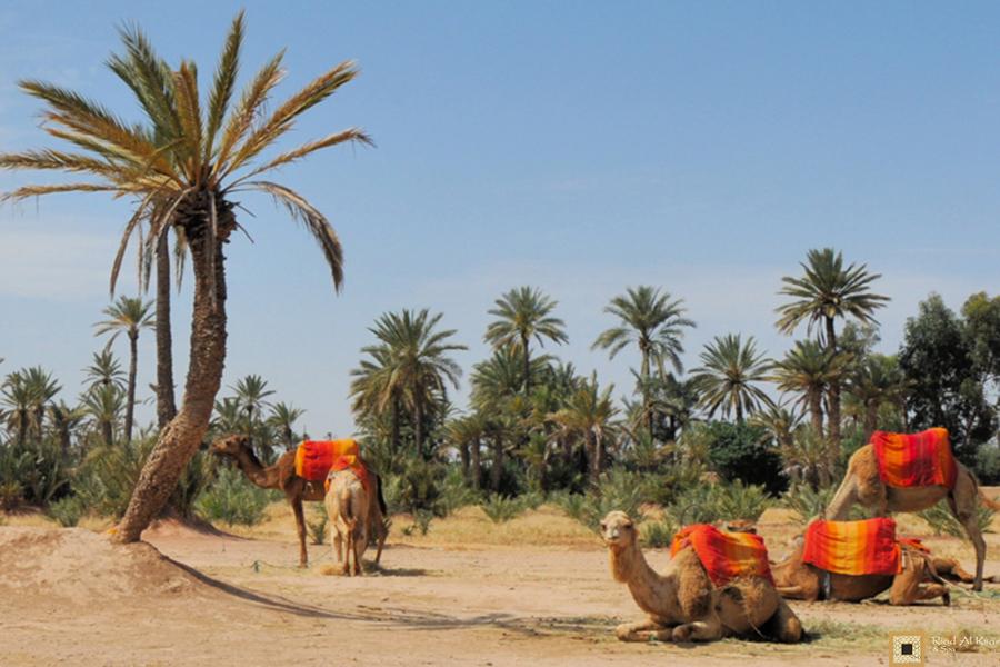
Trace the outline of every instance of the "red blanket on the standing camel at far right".
[[931, 428], [919, 434], [871, 435], [879, 477], [893, 487], [954, 487], [956, 466], [948, 429]]

